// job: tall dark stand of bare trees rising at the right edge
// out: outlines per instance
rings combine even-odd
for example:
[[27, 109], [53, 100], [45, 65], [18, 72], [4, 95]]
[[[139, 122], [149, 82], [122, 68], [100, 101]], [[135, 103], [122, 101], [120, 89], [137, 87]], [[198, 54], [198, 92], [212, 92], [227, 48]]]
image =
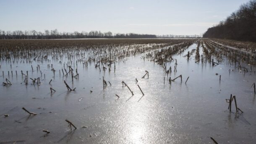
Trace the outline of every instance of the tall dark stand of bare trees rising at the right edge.
[[203, 37], [256, 42], [256, 0], [241, 5], [225, 21], [208, 28]]

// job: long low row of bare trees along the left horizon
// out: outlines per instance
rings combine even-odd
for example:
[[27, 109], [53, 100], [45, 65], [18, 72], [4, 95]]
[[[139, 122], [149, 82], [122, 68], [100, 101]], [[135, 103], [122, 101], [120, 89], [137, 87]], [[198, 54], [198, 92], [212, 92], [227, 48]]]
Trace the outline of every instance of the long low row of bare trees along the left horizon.
[[136, 34], [136, 33], [116, 33], [108, 31], [102, 33], [101, 31], [90, 31], [73, 33], [58, 32], [57, 29], [41, 31], [2, 31], [0, 30], [0, 39], [82, 39], [82, 38], [157, 38], [156, 35], [150, 34]]

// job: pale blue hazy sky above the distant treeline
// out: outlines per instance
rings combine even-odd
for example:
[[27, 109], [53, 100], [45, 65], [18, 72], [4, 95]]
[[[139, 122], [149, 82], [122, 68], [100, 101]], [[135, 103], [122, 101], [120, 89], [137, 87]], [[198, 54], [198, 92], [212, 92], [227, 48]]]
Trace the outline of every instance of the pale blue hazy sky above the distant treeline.
[[191, 35], [249, 0], [0, 0], [0, 29]]

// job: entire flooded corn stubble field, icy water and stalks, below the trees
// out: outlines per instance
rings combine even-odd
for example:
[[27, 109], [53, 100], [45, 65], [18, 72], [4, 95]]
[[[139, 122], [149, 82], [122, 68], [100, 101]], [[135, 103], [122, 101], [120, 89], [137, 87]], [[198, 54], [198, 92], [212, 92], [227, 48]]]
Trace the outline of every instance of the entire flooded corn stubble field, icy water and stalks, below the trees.
[[214, 39], [1, 40], [0, 144], [252, 144], [255, 65]]

